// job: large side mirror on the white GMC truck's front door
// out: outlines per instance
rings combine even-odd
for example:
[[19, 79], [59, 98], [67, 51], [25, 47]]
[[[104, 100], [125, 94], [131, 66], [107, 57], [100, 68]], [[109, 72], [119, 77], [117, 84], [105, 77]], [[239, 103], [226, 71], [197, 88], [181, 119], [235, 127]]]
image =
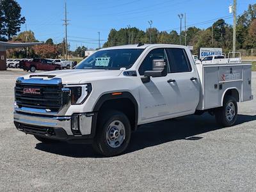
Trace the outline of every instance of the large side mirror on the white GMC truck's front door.
[[141, 77], [143, 83], [150, 81], [150, 77], [164, 77], [167, 76], [167, 65], [165, 60], [153, 60], [152, 70], [146, 70], [144, 77]]

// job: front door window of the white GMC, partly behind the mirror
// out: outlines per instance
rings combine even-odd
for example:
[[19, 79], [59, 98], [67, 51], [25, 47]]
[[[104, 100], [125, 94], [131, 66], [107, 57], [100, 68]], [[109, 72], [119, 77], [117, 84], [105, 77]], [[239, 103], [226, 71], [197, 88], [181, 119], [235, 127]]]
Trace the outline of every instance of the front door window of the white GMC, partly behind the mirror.
[[153, 70], [153, 60], [166, 60], [167, 56], [164, 49], [154, 49], [148, 53], [144, 61], [141, 63], [139, 68], [140, 76], [144, 76], [146, 70]]

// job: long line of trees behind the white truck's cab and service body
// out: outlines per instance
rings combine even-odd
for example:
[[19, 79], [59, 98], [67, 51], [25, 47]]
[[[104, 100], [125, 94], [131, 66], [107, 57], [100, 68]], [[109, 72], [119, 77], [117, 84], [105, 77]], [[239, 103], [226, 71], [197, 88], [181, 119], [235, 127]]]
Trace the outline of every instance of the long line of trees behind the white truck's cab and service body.
[[[232, 51], [232, 26], [227, 24], [224, 19], [219, 19], [211, 27], [200, 29], [190, 27], [180, 34], [182, 45], [185, 44], [185, 34], [187, 45], [193, 45], [195, 54], [200, 47], [221, 47], [224, 52]], [[237, 44], [236, 48], [251, 52], [256, 49], [256, 4], [250, 4], [248, 10], [237, 17]], [[148, 28], [142, 31], [138, 28], [111, 29], [108, 41], [103, 47], [116, 45], [138, 44], [139, 42], [152, 44], [180, 44], [180, 35], [177, 31], [158, 31], [156, 28]], [[246, 54], [246, 51], [244, 52]], [[253, 53], [256, 55], [256, 51]]]

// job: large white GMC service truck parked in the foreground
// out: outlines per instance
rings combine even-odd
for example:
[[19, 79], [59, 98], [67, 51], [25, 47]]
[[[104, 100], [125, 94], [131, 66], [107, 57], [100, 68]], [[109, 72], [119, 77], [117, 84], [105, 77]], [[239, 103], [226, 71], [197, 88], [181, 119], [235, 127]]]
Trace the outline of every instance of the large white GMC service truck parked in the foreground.
[[221, 126], [234, 125], [237, 102], [253, 99], [251, 67], [195, 65], [180, 45], [100, 49], [73, 70], [19, 77], [14, 123], [42, 142], [92, 143], [116, 156], [150, 122], [209, 112]]

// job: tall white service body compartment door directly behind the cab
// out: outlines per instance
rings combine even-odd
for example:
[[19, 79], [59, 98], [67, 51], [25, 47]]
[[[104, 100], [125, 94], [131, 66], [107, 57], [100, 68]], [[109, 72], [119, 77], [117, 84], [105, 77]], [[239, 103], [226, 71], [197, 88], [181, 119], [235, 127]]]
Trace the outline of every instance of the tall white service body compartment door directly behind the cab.
[[204, 109], [220, 106], [218, 67], [204, 67]]

